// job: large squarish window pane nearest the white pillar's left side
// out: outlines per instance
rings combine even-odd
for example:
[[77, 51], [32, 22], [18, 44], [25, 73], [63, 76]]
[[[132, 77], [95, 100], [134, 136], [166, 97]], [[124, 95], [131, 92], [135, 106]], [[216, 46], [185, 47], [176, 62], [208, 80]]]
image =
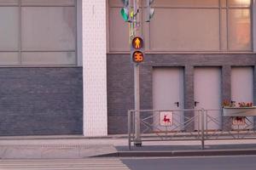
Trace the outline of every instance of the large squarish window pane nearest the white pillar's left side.
[[23, 51], [75, 50], [74, 7], [23, 7], [21, 13]]

